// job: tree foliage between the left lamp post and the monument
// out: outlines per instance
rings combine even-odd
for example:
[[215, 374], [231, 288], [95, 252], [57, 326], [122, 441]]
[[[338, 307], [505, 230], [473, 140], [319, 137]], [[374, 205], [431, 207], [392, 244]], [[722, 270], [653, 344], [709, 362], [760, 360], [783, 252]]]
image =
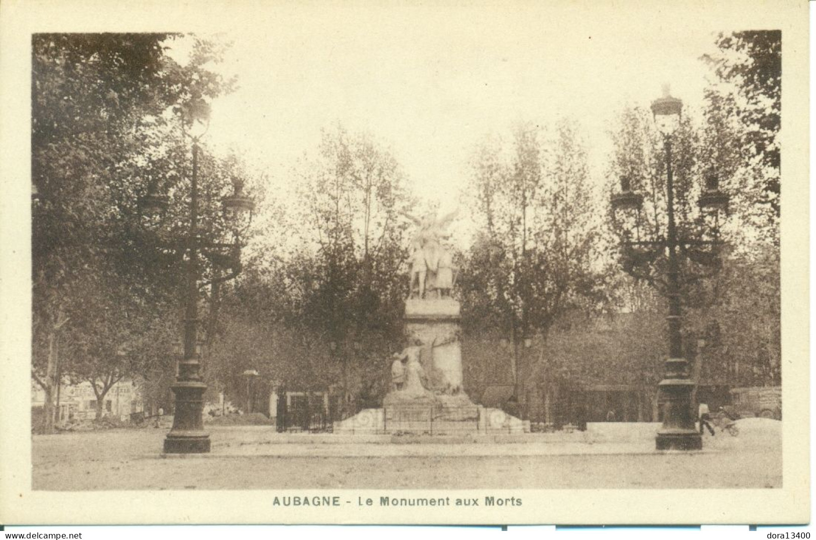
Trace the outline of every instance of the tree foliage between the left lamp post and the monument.
[[[240, 392], [240, 373], [293, 387], [379, 387], [401, 342], [407, 296], [404, 178], [366, 135], [324, 131], [294, 170], [296, 203], [273, 208], [255, 261], [224, 299], [212, 369]], [[235, 360], [237, 359], [237, 360]], [[356, 388], [356, 390], [355, 390]]]

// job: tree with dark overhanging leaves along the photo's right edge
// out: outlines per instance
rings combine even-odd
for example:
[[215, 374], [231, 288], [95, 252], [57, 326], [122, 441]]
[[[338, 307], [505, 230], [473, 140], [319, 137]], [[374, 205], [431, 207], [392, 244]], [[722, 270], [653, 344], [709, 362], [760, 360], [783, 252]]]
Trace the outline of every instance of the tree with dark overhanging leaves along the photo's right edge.
[[709, 126], [730, 130], [728, 146], [736, 150], [733, 248], [707, 289], [708, 309], [699, 313], [698, 331], [708, 338], [708, 356], [719, 360], [712, 367], [726, 369], [732, 383], [778, 385], [782, 33], [721, 33], [716, 46], [719, 51], [703, 57], [713, 75], [706, 113]]

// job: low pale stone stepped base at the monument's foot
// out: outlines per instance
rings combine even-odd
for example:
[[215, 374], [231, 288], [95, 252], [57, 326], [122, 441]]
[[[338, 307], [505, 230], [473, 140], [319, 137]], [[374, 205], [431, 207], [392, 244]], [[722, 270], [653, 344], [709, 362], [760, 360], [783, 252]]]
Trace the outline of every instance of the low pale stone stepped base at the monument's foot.
[[530, 421], [475, 405], [467, 396], [433, 396], [410, 402], [386, 400], [381, 409], [363, 409], [335, 422], [333, 431], [341, 435], [519, 434], [530, 432]]

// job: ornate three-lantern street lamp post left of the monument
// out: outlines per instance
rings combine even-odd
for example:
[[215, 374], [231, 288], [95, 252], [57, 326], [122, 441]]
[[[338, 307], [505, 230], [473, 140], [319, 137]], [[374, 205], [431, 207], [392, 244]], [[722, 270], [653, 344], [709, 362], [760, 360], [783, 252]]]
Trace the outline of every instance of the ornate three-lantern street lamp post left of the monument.
[[[204, 126], [204, 122], [193, 120], [189, 126]], [[210, 436], [204, 431], [202, 413], [203, 395], [206, 384], [202, 381], [200, 352], [198, 351], [198, 289], [201, 280], [199, 258], [205, 255], [215, 265], [226, 265], [232, 272], [220, 277], [213, 277], [205, 285], [227, 281], [236, 277], [241, 271], [240, 233], [251, 221], [254, 204], [242, 193], [240, 179], [233, 179], [234, 193], [224, 197], [224, 214], [228, 221], [235, 225], [231, 243], [204, 241], [198, 230], [198, 144], [206, 127], [198, 135], [188, 134], [193, 141], [193, 163], [190, 175], [190, 222], [188, 237], [180, 245], [171, 246], [187, 255], [184, 274], [184, 355], [178, 363], [175, 384], [171, 387], [175, 394], [175, 414], [173, 427], [164, 440], [164, 451], [167, 454], [202, 454], [210, 451]], [[142, 200], [145, 210], [159, 213], [168, 206], [166, 195], [157, 191], [157, 184], [152, 182], [149, 193]], [[166, 249], [167, 246], [162, 246]]]

